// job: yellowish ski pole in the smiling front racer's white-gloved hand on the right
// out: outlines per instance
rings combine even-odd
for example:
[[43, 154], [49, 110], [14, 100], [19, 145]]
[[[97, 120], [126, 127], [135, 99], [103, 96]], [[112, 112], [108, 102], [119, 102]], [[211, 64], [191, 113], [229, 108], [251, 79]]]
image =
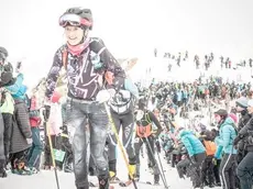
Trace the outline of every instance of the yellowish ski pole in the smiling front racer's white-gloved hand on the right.
[[118, 144], [119, 144], [121, 154], [122, 154], [122, 156], [123, 156], [124, 163], [125, 163], [127, 168], [128, 168], [128, 170], [129, 170], [130, 179], [131, 179], [131, 181], [132, 181], [132, 184], [133, 184], [133, 186], [134, 186], [134, 189], [138, 189], [136, 182], [135, 182], [135, 180], [134, 180], [134, 178], [133, 178], [133, 175], [132, 175], [132, 173], [131, 173], [131, 170], [130, 170], [130, 168], [129, 168], [129, 160], [128, 160], [128, 157], [127, 157], [127, 155], [125, 155], [125, 153], [124, 153], [123, 144], [122, 144], [121, 141], [120, 141], [120, 137], [119, 137], [119, 134], [118, 134], [116, 124], [114, 124], [114, 122], [113, 122], [113, 120], [112, 120], [111, 112], [110, 112], [110, 110], [109, 110], [109, 108], [108, 108], [108, 105], [107, 105], [107, 102], [105, 102], [105, 107], [106, 107], [106, 110], [107, 110], [107, 114], [108, 114], [109, 122], [111, 123], [111, 129], [112, 129], [112, 131], [113, 131], [113, 133], [114, 133], [114, 135], [116, 135], [116, 138], [117, 138], [117, 142], [118, 142]]

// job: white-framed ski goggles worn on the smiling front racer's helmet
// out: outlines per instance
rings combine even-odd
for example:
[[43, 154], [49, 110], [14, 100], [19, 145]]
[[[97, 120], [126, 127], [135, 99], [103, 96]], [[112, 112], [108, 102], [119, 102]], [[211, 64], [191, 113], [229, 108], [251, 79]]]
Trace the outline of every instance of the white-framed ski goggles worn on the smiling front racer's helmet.
[[59, 25], [65, 27], [66, 25], [73, 26], [91, 26], [91, 22], [80, 18], [77, 14], [63, 14], [59, 18]]

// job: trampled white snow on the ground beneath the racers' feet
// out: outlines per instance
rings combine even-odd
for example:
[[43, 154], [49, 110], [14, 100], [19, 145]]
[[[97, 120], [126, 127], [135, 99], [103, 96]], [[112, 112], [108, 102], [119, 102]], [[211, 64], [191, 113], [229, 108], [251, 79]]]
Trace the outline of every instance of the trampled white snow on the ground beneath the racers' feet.
[[[161, 155], [162, 157], [162, 155]], [[191, 184], [188, 179], [183, 180], [178, 178], [177, 171], [175, 168], [172, 168], [170, 165], [167, 165], [162, 157], [162, 162], [165, 169], [165, 176], [169, 186], [169, 189], [190, 189]], [[141, 157], [142, 169], [141, 169], [141, 181], [151, 181], [153, 182], [153, 176], [146, 170], [146, 159]], [[121, 179], [127, 179], [127, 168], [122, 158], [119, 159], [118, 165], [118, 175]], [[75, 189], [75, 181], [73, 174], [65, 174], [63, 171], [58, 173], [58, 178], [61, 182], [61, 189]], [[90, 178], [96, 182], [96, 178]], [[161, 186], [148, 186], [144, 184], [138, 184], [139, 189], [164, 189], [161, 180]], [[119, 185], [113, 185], [116, 189], [120, 189]], [[37, 175], [33, 176], [16, 176], [9, 174], [9, 177], [6, 179], [0, 179], [0, 189], [57, 189], [55, 184], [54, 171], [41, 171]], [[133, 186], [128, 187], [133, 189]], [[219, 189], [219, 188], [213, 188]]]

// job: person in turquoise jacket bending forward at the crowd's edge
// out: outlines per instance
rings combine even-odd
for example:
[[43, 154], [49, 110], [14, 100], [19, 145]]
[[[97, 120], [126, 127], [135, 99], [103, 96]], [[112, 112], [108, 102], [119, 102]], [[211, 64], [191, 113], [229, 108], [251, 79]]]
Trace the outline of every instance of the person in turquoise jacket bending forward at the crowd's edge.
[[[182, 130], [179, 132], [179, 138], [182, 143], [185, 145], [188, 155], [190, 157], [191, 164], [196, 167], [196, 174], [199, 180], [196, 180], [196, 185], [198, 182], [199, 186], [194, 186], [195, 188], [200, 187], [204, 188], [204, 175], [202, 175], [202, 163], [206, 158], [206, 148], [200, 140], [191, 131]], [[195, 185], [195, 184], [194, 184]]]

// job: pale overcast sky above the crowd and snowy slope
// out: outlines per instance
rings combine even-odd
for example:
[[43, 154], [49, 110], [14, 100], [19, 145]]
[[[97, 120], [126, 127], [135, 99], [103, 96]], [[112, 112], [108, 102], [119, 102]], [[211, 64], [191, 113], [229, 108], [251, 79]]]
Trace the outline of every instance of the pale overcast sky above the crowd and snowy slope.
[[0, 0], [0, 45], [45, 75], [64, 42], [58, 18], [75, 5], [92, 9], [94, 35], [117, 57], [153, 53], [154, 46], [253, 56], [252, 0]]

